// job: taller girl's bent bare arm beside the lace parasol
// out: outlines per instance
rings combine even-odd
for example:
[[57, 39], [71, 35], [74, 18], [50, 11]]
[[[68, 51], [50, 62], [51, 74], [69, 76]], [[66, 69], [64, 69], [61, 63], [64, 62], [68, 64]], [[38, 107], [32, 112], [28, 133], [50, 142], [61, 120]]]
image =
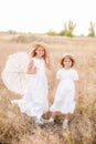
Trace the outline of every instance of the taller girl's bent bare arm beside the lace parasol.
[[36, 68], [33, 66], [33, 60], [32, 59], [29, 61], [29, 64], [28, 64], [28, 68], [26, 68], [26, 73], [28, 74], [36, 73]]

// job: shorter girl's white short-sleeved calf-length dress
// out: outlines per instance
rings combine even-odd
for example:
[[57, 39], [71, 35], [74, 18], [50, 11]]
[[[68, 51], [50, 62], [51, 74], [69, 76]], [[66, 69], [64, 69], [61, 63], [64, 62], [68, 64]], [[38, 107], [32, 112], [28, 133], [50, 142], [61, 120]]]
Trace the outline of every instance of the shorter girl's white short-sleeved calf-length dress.
[[64, 114], [73, 113], [75, 110], [75, 84], [78, 80], [78, 74], [74, 69], [60, 69], [56, 79], [61, 80], [55, 93], [54, 103], [51, 106], [51, 112], [62, 112]]

